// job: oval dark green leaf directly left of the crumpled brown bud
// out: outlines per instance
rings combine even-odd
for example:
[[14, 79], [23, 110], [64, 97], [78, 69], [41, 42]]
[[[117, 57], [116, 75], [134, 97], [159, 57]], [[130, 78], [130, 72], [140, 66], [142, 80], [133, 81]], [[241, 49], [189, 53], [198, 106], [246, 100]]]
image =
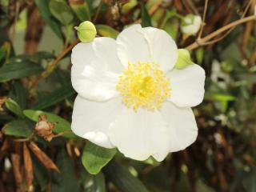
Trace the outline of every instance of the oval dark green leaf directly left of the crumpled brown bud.
[[28, 138], [32, 134], [33, 124], [26, 119], [9, 122], [4, 127], [3, 133], [16, 137]]

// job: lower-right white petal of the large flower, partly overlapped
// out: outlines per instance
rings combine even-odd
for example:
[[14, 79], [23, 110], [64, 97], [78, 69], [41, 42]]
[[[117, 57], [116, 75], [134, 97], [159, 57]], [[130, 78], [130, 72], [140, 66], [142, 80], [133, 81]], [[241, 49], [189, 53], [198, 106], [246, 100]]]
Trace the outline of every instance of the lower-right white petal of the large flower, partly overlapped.
[[171, 102], [164, 102], [160, 113], [169, 124], [170, 152], [184, 150], [196, 140], [198, 127], [190, 108], [180, 108]]

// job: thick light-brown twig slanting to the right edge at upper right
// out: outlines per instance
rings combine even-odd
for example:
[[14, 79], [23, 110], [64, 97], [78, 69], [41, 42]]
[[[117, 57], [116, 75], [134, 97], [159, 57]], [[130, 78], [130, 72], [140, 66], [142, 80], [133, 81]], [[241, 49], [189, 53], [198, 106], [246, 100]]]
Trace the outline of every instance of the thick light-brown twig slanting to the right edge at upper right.
[[234, 27], [234, 26], [238, 26], [244, 22], [250, 22], [250, 21], [256, 21], [256, 16], [249, 16], [246, 18], [241, 18], [235, 22], [230, 22], [230, 24], [226, 25], [226, 26], [222, 26], [222, 28], [215, 30], [213, 33], [208, 34], [206, 37], [204, 38], [200, 38], [198, 39], [196, 42], [192, 43], [190, 46], [186, 46], [187, 50], [194, 50], [195, 48], [197, 48], [198, 46], [204, 46], [207, 45], [207, 42], [212, 39], [215, 38], [216, 36], [218, 36], [218, 34], [222, 34], [224, 31], [229, 30], [230, 28]]

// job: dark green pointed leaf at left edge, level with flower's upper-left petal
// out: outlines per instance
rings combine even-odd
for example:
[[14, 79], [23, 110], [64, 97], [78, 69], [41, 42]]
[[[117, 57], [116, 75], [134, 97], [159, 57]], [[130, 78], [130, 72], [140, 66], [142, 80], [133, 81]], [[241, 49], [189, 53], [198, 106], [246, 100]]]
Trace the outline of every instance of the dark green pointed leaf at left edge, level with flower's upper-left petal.
[[0, 82], [28, 77], [42, 72], [42, 66], [30, 61], [11, 62], [0, 68]]

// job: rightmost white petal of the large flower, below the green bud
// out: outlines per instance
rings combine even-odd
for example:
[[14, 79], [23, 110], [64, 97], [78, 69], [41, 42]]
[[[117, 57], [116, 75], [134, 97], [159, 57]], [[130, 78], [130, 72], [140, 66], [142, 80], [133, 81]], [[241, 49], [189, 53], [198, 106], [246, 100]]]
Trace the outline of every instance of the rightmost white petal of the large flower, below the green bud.
[[205, 70], [201, 66], [191, 65], [182, 70], [171, 70], [167, 76], [170, 78], [170, 98], [177, 106], [197, 106], [202, 102], [205, 93]]

